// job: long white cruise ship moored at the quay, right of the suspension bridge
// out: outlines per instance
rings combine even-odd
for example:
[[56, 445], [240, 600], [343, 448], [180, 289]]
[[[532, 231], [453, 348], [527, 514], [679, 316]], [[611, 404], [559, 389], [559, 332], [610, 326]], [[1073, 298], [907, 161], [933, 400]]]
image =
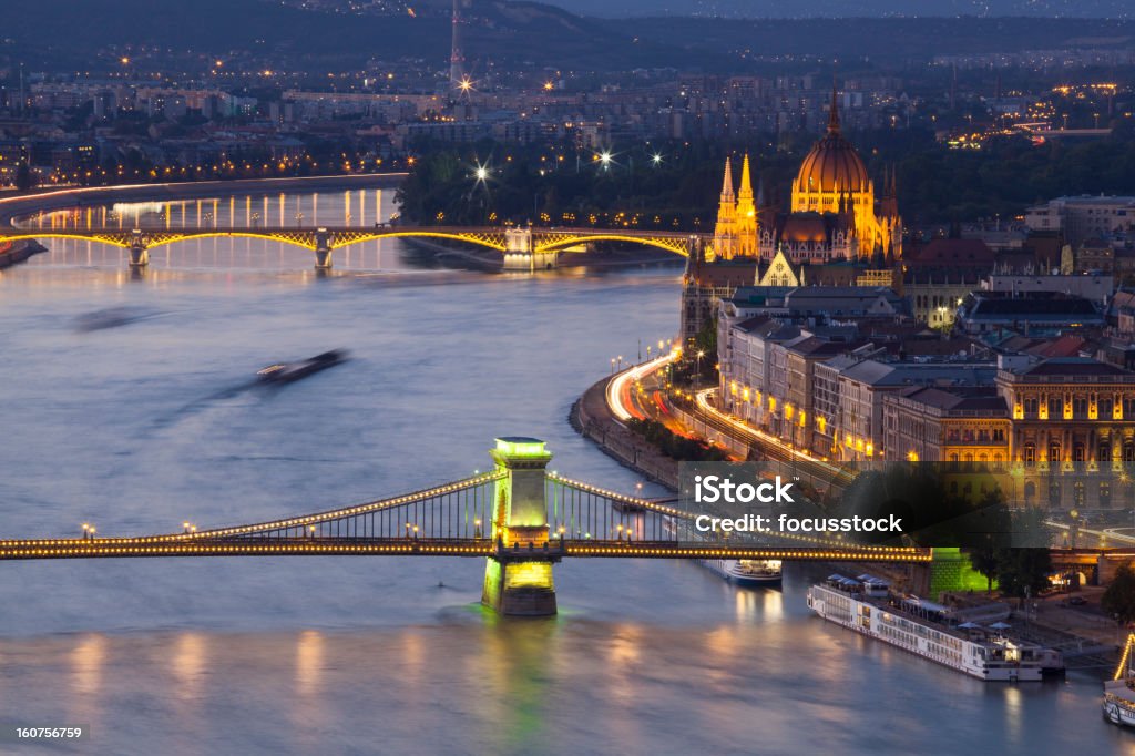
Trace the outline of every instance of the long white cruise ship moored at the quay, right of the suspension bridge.
[[948, 607], [892, 594], [885, 580], [872, 576], [829, 576], [808, 589], [808, 606], [830, 622], [980, 680], [1025, 682], [1063, 671], [1059, 652], [1014, 642], [1000, 632], [1007, 625], [951, 625]]

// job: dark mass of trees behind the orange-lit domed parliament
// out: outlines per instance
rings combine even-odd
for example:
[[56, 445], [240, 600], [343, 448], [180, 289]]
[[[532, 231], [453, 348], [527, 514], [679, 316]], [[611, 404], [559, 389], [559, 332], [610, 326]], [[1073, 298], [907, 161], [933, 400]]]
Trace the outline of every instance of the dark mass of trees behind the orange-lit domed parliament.
[[[899, 209], [908, 226], [1008, 219], [1028, 204], [1063, 194], [1135, 193], [1130, 128], [1117, 128], [1104, 140], [1053, 140], [1041, 145], [1023, 136], [999, 137], [981, 150], [951, 150], [918, 128], [849, 137], [876, 178], [896, 166]], [[713, 227], [728, 154], [737, 160], [751, 151], [754, 182], [764, 184], [766, 201], [779, 198], [783, 208], [791, 179], [814, 141], [815, 135], [799, 134], [775, 146], [756, 138], [751, 144], [656, 142], [628, 149], [616, 144], [607, 169], [592, 151], [578, 151], [568, 143], [485, 141], [471, 149], [419, 143], [414, 150], [420, 158], [400, 199], [406, 219], [420, 224], [482, 224], [496, 213], [493, 222], [600, 228], [628, 222], [634, 228], [705, 232]], [[657, 166], [650, 160], [655, 150], [664, 157]], [[490, 167], [481, 184], [474, 177], [478, 165]]]

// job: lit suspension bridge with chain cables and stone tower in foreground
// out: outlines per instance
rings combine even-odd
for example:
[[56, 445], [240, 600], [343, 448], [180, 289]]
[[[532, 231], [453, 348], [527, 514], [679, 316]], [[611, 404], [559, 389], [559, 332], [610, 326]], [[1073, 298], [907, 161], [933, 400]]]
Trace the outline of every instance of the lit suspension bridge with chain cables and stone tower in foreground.
[[[563, 558], [751, 558], [925, 563], [931, 549], [771, 536], [704, 540], [693, 515], [547, 470], [541, 440], [505, 437], [494, 469], [363, 504], [267, 522], [137, 537], [2, 539], [0, 560], [157, 556], [480, 556], [482, 602], [504, 614], [554, 614]], [[86, 529], [84, 527], [84, 529]]]

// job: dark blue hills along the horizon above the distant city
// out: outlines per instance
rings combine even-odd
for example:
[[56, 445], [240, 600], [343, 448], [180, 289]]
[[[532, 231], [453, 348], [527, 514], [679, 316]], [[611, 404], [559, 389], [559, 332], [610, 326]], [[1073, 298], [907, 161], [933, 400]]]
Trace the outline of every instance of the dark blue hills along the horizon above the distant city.
[[[358, 69], [368, 60], [418, 58], [444, 69], [444, 14], [348, 16], [264, 0], [5, 0], [0, 57], [33, 69], [100, 70], [116, 51], [158, 48], [162, 59], [208, 60], [253, 51], [289, 70]], [[725, 20], [580, 17], [536, 2], [479, 0], [466, 57], [571, 70], [675, 66], [751, 70], [751, 57], [925, 59], [947, 52], [1132, 47], [1135, 22], [1050, 18], [851, 18]], [[747, 56], [740, 54], [748, 51]]]

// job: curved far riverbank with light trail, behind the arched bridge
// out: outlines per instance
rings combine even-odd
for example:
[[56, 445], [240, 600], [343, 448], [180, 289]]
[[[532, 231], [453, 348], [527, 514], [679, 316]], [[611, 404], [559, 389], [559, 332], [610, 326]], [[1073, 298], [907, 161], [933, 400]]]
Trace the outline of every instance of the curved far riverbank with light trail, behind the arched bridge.
[[200, 200], [253, 192], [312, 192], [320, 190], [394, 188], [406, 174], [358, 174], [352, 176], [305, 176], [289, 178], [242, 178], [232, 182], [186, 182], [180, 184], [129, 184], [33, 191], [0, 195], [0, 224], [15, 218], [64, 208], [112, 204], [115, 202], [161, 202]]

